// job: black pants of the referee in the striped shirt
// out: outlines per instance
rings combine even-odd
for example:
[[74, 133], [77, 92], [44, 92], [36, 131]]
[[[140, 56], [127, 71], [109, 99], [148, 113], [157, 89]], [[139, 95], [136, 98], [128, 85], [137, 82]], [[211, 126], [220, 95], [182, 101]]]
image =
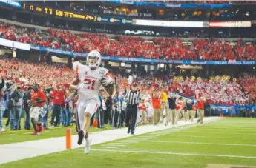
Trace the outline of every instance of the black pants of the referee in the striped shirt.
[[125, 113], [125, 126], [128, 127], [128, 132], [134, 134], [138, 106], [137, 104], [128, 105]]

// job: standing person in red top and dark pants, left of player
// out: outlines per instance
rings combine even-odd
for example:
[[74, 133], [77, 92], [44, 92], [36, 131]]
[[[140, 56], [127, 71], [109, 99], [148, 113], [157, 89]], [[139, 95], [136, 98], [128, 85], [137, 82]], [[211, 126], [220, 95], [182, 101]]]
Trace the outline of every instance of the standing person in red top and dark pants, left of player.
[[[50, 124], [54, 127], [59, 127], [59, 116], [62, 111], [62, 104], [64, 103], [65, 90], [63, 90], [61, 86], [56, 87], [55, 82], [53, 88], [53, 114], [51, 116]], [[55, 117], [56, 121], [54, 121]]]

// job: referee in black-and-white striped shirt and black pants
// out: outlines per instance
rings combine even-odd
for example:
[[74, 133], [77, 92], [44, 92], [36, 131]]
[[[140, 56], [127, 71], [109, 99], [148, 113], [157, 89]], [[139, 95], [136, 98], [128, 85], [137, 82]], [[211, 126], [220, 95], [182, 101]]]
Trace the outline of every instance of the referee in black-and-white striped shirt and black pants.
[[132, 84], [131, 90], [125, 94], [127, 100], [127, 108], [125, 113], [125, 126], [128, 127], [128, 134], [134, 135], [138, 104], [140, 101], [140, 90], [137, 90], [137, 84]]

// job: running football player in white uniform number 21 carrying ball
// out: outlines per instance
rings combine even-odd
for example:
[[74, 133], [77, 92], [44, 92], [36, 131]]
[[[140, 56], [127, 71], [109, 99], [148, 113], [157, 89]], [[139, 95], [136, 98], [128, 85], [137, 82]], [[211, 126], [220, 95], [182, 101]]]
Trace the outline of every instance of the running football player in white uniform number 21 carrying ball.
[[77, 101], [77, 125], [78, 142], [81, 145], [85, 138], [85, 153], [90, 150], [88, 139], [88, 127], [91, 116], [99, 107], [99, 87], [105, 87], [108, 95], [115, 92], [115, 81], [108, 75], [108, 70], [99, 67], [101, 55], [98, 51], [92, 50], [88, 53], [86, 65], [79, 61], [73, 63], [73, 70], [76, 70], [76, 78], [70, 84], [70, 90], [78, 90], [79, 99]]

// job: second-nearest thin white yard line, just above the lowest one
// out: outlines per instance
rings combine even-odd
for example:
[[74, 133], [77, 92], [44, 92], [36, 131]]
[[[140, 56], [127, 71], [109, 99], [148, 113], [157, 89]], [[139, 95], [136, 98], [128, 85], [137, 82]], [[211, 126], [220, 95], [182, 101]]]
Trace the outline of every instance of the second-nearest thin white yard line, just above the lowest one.
[[222, 145], [222, 146], [243, 146], [243, 147], [256, 147], [256, 144], [221, 144], [221, 143], [204, 143], [204, 142], [183, 142], [183, 141], [140, 141], [140, 142], [152, 142], [152, 143], [168, 143], [168, 144], [210, 144], [210, 145]]

